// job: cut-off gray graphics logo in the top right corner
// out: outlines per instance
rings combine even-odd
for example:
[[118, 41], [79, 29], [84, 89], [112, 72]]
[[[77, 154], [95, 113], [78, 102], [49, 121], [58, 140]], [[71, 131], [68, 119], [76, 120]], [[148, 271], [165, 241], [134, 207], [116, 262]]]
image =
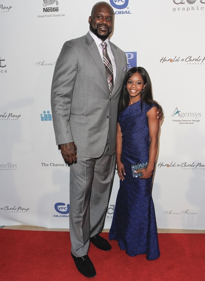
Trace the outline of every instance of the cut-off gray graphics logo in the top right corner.
[[205, 4], [205, 0], [173, 0], [173, 2], [175, 4], [175, 6], [172, 8], [173, 12], [186, 11], [191, 13], [193, 11], [203, 11]]

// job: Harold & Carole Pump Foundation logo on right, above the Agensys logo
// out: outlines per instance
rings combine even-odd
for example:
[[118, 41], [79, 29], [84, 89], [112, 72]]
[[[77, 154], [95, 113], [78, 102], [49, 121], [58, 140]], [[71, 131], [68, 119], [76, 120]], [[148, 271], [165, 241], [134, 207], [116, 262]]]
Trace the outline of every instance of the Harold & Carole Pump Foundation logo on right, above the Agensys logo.
[[205, 56], [204, 55], [187, 55], [187, 56], [162, 56], [162, 58], [159, 60], [162, 64], [167, 63], [185, 63], [186, 65], [205, 65]]

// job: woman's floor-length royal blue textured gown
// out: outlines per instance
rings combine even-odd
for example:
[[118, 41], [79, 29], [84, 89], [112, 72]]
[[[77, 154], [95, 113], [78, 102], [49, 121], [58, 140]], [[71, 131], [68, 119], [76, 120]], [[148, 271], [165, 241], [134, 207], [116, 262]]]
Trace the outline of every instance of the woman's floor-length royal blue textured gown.
[[154, 105], [140, 101], [120, 113], [118, 122], [122, 131], [122, 163], [126, 176], [120, 181], [109, 239], [117, 240], [127, 255], [146, 254], [148, 260], [159, 258], [155, 209], [151, 195], [152, 177], [132, 177], [131, 164], [148, 161], [149, 130], [146, 113]]

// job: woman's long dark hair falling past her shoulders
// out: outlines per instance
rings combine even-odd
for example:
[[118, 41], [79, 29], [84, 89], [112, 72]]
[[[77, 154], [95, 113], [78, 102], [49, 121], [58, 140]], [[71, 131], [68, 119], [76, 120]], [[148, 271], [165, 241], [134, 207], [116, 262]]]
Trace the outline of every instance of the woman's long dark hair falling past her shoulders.
[[127, 92], [127, 81], [136, 72], [138, 72], [142, 76], [144, 84], [146, 84], [143, 94], [141, 95], [141, 102], [140, 102], [141, 108], [142, 108], [143, 102], [145, 102], [148, 105], [155, 104], [155, 102], [153, 101], [152, 86], [151, 86], [151, 80], [149, 78], [149, 74], [141, 66], [133, 67], [127, 71], [123, 84], [122, 84], [122, 91], [121, 91], [121, 95], [119, 98], [119, 104], [118, 104], [118, 114], [120, 112], [122, 112], [129, 105], [129, 94]]

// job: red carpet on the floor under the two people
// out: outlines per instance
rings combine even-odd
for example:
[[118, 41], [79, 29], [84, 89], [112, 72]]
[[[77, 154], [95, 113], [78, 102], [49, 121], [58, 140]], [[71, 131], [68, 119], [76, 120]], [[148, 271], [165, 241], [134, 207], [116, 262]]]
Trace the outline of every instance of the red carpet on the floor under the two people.
[[[108, 233], [102, 233], [108, 238]], [[93, 281], [205, 280], [204, 234], [160, 233], [161, 256], [129, 257], [111, 241], [112, 250], [90, 245], [97, 276]], [[71, 258], [69, 232], [0, 229], [0, 280], [88, 280]]]

